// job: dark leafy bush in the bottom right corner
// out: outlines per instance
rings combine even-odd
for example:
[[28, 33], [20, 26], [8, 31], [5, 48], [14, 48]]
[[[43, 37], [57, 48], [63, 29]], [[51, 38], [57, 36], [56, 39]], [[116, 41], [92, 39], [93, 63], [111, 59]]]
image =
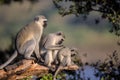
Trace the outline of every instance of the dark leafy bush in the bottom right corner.
[[117, 51], [115, 50], [107, 56], [104, 62], [99, 61], [94, 66], [101, 74], [100, 80], [120, 80], [120, 63]]

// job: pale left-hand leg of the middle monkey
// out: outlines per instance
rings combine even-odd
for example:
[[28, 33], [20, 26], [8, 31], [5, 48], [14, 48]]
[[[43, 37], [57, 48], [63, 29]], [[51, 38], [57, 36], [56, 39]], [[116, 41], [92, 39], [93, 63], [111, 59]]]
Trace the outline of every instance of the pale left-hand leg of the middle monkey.
[[45, 65], [47, 65], [48, 67], [51, 67], [52, 61], [53, 61], [52, 51], [48, 50], [48, 52], [45, 56]]

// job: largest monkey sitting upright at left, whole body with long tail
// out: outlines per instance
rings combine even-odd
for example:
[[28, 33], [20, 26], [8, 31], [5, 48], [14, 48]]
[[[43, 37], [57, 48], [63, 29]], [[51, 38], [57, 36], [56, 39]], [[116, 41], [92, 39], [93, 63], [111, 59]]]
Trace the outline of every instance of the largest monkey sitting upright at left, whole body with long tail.
[[47, 19], [45, 16], [38, 15], [34, 18], [34, 20], [24, 26], [17, 34], [15, 39], [15, 52], [10, 57], [8, 61], [4, 64], [0, 65], [0, 69], [7, 66], [10, 62], [13, 61], [14, 58], [17, 57], [18, 53], [23, 55], [25, 59], [33, 59], [31, 57], [33, 52], [39, 60], [42, 60], [39, 53], [39, 42], [41, 41], [41, 36], [43, 33], [43, 29], [47, 26]]

